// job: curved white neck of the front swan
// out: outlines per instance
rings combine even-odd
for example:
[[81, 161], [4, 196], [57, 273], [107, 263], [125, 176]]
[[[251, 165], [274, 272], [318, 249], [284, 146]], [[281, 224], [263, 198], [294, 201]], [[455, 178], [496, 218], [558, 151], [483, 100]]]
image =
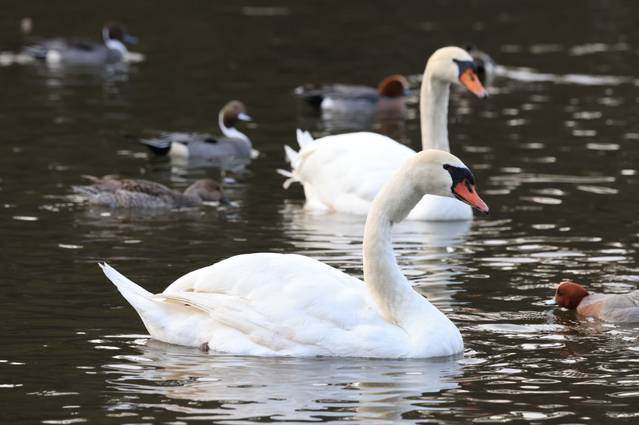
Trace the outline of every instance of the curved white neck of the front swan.
[[364, 283], [381, 315], [404, 329], [415, 321], [415, 310], [428, 303], [413, 290], [393, 254], [393, 225], [405, 219], [424, 196], [405, 174], [397, 171], [381, 188], [364, 228]]

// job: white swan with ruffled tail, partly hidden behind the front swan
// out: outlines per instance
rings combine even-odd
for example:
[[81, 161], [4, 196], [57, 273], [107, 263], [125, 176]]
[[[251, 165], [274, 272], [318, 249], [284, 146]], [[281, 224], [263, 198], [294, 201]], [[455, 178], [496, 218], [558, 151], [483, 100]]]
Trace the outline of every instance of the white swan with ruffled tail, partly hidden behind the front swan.
[[[444, 47], [429, 59], [420, 94], [422, 149], [450, 152], [448, 101], [451, 83], [463, 83], [478, 97], [488, 97], [473, 58], [459, 47]], [[305, 208], [367, 214], [377, 192], [406, 159], [409, 147], [377, 133], [348, 133], [313, 140], [297, 131], [300, 151], [285, 146], [291, 171], [278, 170], [304, 186]], [[472, 209], [453, 199], [426, 196], [408, 220], [471, 220]]]

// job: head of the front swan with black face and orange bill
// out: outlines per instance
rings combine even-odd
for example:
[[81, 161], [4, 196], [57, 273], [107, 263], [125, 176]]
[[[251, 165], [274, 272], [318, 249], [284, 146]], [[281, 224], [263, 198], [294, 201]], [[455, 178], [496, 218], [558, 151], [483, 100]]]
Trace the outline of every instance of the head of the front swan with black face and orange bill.
[[475, 176], [455, 155], [426, 149], [406, 161], [413, 184], [424, 194], [457, 198], [488, 215], [488, 205], [475, 191]]

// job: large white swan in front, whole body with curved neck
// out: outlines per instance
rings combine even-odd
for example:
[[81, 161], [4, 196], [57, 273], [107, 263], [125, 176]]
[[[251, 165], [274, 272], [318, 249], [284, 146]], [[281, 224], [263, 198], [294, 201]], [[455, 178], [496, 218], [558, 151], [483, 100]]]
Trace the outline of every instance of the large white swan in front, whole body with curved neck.
[[454, 155], [415, 154], [376, 196], [364, 230], [364, 282], [309, 257], [245, 254], [153, 295], [104, 264], [153, 338], [254, 356], [435, 357], [463, 350], [456, 326], [413, 290], [390, 242], [424, 194], [488, 206]]

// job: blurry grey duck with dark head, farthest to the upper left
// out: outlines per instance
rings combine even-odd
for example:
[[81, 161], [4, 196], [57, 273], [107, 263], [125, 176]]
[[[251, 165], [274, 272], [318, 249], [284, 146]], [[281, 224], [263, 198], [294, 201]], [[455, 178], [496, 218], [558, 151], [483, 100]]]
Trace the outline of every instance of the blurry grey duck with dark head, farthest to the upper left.
[[102, 27], [102, 43], [88, 38], [48, 38], [32, 46], [24, 47], [24, 52], [47, 62], [61, 62], [68, 65], [104, 65], [120, 62], [128, 50], [123, 42], [137, 43], [137, 38], [127, 32], [122, 22], [107, 21]]

